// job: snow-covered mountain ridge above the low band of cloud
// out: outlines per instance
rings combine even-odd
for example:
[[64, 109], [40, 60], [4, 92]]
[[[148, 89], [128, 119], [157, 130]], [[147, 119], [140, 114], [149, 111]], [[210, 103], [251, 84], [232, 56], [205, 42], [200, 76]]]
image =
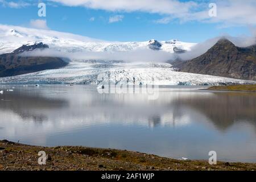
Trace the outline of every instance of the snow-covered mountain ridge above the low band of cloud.
[[175, 49], [190, 51], [191, 47], [195, 46], [195, 43], [184, 43], [178, 40], [158, 42], [153, 39], [145, 42], [106, 42], [51, 30], [0, 25], [0, 54], [11, 52], [23, 44], [34, 44], [36, 42], [43, 42], [51, 49], [65, 52], [116, 52], [151, 48], [173, 53]]

